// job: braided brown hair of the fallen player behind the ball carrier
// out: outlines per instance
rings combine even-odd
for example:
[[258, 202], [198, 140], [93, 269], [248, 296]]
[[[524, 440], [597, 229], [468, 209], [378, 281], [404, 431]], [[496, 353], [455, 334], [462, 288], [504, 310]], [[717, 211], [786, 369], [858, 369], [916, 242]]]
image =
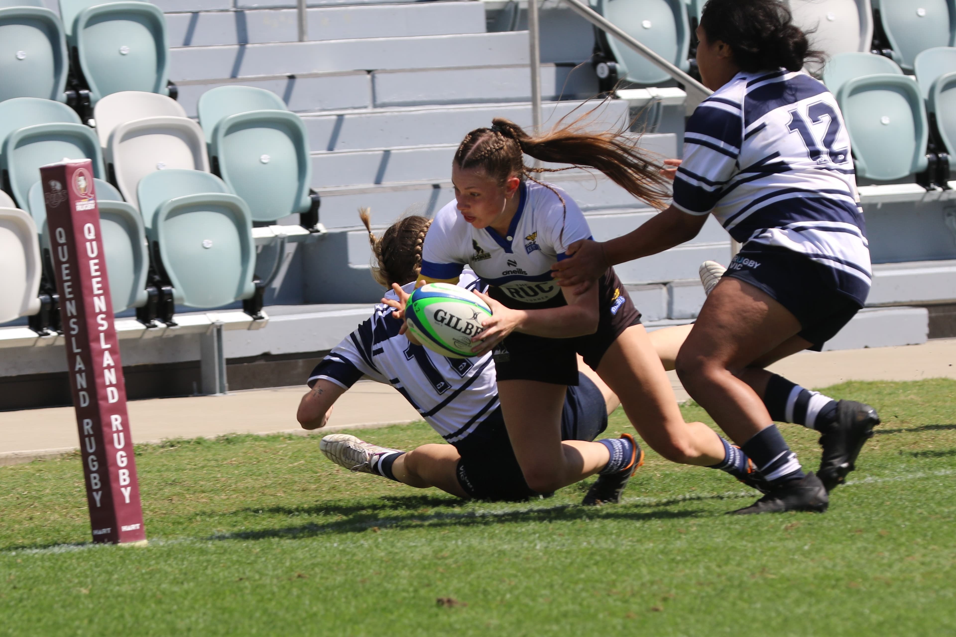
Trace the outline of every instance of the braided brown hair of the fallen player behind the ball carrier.
[[382, 287], [393, 283], [403, 286], [418, 278], [422, 269], [422, 247], [431, 220], [420, 215], [402, 217], [376, 237], [372, 232], [372, 214], [368, 208], [359, 209], [359, 218], [368, 231], [372, 246], [372, 277]]

